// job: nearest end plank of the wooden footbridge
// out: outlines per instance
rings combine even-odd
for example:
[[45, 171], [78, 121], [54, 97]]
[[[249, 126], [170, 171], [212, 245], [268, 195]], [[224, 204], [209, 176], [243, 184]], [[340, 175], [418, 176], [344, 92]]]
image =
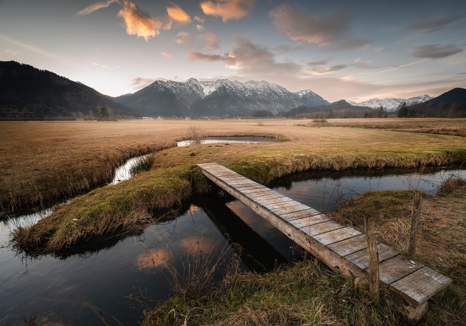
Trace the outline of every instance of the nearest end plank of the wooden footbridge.
[[420, 305], [452, 283], [452, 279], [428, 267], [392, 283], [390, 289], [413, 305]]

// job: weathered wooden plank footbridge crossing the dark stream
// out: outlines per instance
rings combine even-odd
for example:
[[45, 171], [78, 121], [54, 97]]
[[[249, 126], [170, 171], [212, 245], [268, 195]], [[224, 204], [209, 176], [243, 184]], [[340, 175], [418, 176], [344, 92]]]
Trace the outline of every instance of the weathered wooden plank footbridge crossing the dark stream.
[[[365, 235], [328, 215], [249, 180], [217, 163], [198, 164], [202, 173], [233, 197], [272, 223], [344, 277], [368, 278]], [[377, 244], [380, 285], [391, 292], [398, 310], [415, 324], [452, 280], [383, 243]]]

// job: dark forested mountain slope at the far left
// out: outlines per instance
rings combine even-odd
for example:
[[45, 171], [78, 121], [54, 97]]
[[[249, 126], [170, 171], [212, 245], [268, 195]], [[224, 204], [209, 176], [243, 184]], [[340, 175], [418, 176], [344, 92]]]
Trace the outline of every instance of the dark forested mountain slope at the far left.
[[0, 117], [69, 117], [81, 111], [99, 115], [105, 106], [113, 113], [137, 117], [140, 113], [79, 82], [48, 70], [15, 61], [0, 61]]

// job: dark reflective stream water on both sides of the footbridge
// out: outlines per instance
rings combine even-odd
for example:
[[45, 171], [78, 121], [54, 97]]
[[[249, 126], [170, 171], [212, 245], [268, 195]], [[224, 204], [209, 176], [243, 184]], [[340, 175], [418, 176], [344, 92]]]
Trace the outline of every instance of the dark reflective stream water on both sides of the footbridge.
[[[336, 194], [408, 189], [413, 182], [428, 191], [451, 172], [466, 175], [459, 167], [429, 169], [418, 184], [419, 174], [414, 170], [308, 171], [275, 180], [271, 187], [313, 208], [323, 206], [330, 211], [334, 207], [330, 199]], [[155, 213], [154, 218], [165, 213]], [[169, 243], [178, 265], [186, 252], [199, 249], [205, 253], [212, 250], [214, 259], [222, 252], [225, 258], [240, 254], [241, 267], [256, 271], [272, 269], [274, 259], [286, 263], [298, 258], [287, 236], [229, 196], [193, 198], [157, 225], [92, 239], [52, 256], [27, 258], [7, 247], [15, 225], [39, 218], [36, 213], [0, 221], [0, 325], [20, 325], [22, 315], [34, 312], [38, 312], [38, 324], [47, 319], [61, 325], [102, 325], [100, 309], [109, 324], [115, 322], [106, 313], [123, 325], [137, 325], [141, 311], [130, 309], [127, 298], [133, 287], [137, 295], [147, 288], [153, 300], [165, 299], [156, 278], [164, 273], [158, 257], [168, 258], [160, 245], [163, 241]]]

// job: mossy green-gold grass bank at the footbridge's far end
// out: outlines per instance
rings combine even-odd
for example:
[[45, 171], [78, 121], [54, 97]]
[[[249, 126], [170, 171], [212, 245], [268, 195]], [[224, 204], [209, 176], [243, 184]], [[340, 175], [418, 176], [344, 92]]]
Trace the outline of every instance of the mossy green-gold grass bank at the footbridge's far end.
[[16, 229], [13, 240], [43, 254], [89, 236], [144, 225], [148, 209], [170, 208], [192, 194], [210, 192], [197, 163], [218, 162], [267, 184], [308, 169], [444, 166], [466, 161], [466, 141], [458, 137], [422, 134], [413, 139], [407, 133], [377, 130], [329, 128], [319, 134], [308, 130], [306, 134], [291, 128], [287, 134], [291, 140], [284, 143], [205, 144], [157, 152], [151, 171], [77, 197], [36, 224]]

